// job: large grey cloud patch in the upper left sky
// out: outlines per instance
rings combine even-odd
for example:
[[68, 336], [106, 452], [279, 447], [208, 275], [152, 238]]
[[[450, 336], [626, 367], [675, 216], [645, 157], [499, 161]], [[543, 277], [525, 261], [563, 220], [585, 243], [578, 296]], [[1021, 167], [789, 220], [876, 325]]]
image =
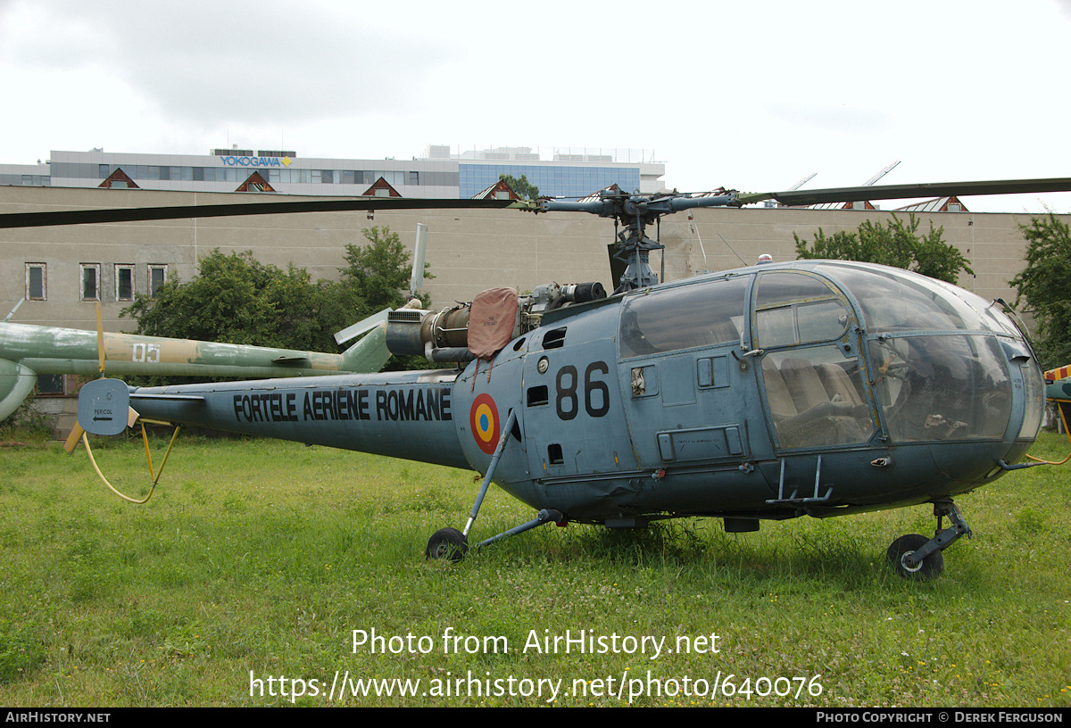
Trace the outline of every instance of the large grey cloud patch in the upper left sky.
[[411, 111], [459, 56], [440, 39], [384, 28], [360, 6], [317, 3], [55, 0], [12, 3], [0, 25], [4, 60], [90, 72], [125, 85], [164, 119], [208, 126]]

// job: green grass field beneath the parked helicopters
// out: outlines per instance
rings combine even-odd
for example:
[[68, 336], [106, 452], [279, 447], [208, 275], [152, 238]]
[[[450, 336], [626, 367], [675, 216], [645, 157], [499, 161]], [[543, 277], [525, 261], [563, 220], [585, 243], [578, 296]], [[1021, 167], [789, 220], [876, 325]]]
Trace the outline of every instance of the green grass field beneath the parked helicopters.
[[[148, 492], [140, 442], [94, 452]], [[1069, 467], [957, 499], [974, 537], [917, 583], [885, 550], [933, 531], [927, 506], [550, 526], [450, 565], [423, 549], [464, 525], [472, 473], [180, 438], [133, 505], [80, 449], [2, 448], [0, 704], [1066, 708]], [[532, 515], [493, 489], [473, 535]]]

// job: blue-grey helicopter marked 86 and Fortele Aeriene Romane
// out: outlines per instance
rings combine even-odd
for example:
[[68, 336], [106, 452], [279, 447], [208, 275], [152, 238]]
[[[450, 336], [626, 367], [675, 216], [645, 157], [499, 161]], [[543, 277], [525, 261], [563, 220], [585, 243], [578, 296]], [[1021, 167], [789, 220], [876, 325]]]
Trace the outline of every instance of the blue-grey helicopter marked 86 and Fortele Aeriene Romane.
[[[1000, 302], [901, 269], [834, 260], [756, 266], [660, 283], [647, 228], [700, 207], [1071, 189], [1071, 179], [883, 185], [583, 200], [353, 198], [181, 209], [0, 215], [0, 226], [427, 207], [514, 207], [613, 218], [620, 279], [488, 289], [387, 322], [395, 354], [452, 368], [307, 380], [129, 388], [86, 384], [79, 423], [134, 418], [417, 459], [483, 475], [463, 529], [427, 558], [458, 561], [494, 483], [545, 524], [642, 528], [722, 518], [826, 518], [930, 503], [935, 535], [889, 546], [895, 572], [936, 578], [970, 528], [953, 499], [1010, 471], [1037, 438], [1044, 383], [1025, 328]], [[125, 413], [130, 410], [131, 418]], [[85, 412], [85, 421], [82, 412]], [[97, 421], [96, 413], [106, 412]], [[419, 443], [419, 445], [418, 445]], [[948, 518], [949, 526], [944, 526]]]

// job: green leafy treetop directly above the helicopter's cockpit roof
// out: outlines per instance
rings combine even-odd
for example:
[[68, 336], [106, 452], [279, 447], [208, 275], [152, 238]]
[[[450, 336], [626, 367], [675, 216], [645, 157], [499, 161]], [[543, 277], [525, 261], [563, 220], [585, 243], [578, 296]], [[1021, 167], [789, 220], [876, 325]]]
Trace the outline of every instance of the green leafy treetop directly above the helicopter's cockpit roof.
[[831, 238], [818, 228], [811, 247], [793, 233], [796, 239], [797, 258], [832, 258], [836, 260], [861, 260], [912, 270], [931, 278], [955, 283], [960, 271], [974, 275], [967, 259], [954, 245], [942, 240], [945, 228], [934, 229], [930, 223], [930, 233], [919, 237], [919, 221], [910, 215], [910, 222], [892, 216], [888, 225], [863, 221], [854, 232], [839, 231]]

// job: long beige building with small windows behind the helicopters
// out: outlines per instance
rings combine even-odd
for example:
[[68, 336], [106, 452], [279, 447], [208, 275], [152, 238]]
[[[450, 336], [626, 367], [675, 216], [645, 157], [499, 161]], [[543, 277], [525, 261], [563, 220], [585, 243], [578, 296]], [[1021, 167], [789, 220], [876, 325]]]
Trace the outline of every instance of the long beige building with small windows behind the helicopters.
[[[0, 213], [212, 204], [235, 198], [235, 193], [0, 186]], [[250, 201], [260, 199], [250, 195]], [[666, 279], [752, 264], [763, 253], [791, 259], [794, 232], [811, 240], [819, 228], [832, 234], [891, 214], [906, 215], [796, 208], [668, 215], [661, 225]], [[975, 275], [962, 277], [961, 286], [986, 299], [1014, 300], [1008, 280], [1023, 264], [1019, 226], [1028, 224], [1029, 215], [916, 214], [920, 230], [931, 224], [944, 227], [945, 240], [970, 261]], [[437, 306], [470, 301], [493, 286], [524, 291], [550, 282], [601, 280], [610, 289], [606, 246], [614, 240], [614, 225], [594, 215], [514, 210], [308, 213], [0, 229], [0, 309], [6, 315], [25, 298], [14, 322], [93, 329], [100, 300], [105, 328], [130, 331], [134, 322], [119, 313], [135, 293], [175, 276], [191, 278], [198, 259], [214, 248], [252, 251], [266, 263], [292, 262], [315, 277], [334, 277], [344, 264], [346, 244], [363, 243], [365, 228], [389, 227], [411, 246], [418, 223], [428, 227], [427, 262], [435, 278], [425, 282], [425, 290]], [[651, 267], [659, 271], [662, 264], [661, 254], [652, 254]]]

